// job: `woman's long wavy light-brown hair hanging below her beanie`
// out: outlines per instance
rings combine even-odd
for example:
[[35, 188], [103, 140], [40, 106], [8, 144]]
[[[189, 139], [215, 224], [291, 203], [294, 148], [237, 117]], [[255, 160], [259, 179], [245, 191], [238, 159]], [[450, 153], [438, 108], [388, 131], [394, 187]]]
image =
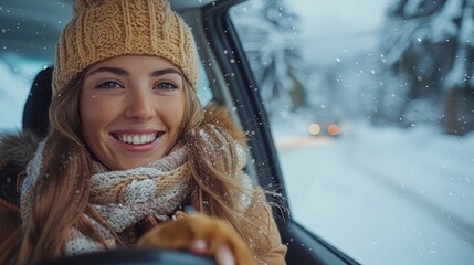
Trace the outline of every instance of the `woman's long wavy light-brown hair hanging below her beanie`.
[[[52, 98], [50, 130], [33, 189], [31, 219], [0, 247], [1, 264], [61, 257], [72, 227], [106, 246], [102, 234], [86, 218], [109, 227], [88, 204], [93, 155], [83, 137], [78, 112], [84, 73]], [[233, 123], [213, 123], [209, 116], [218, 108], [204, 109], [189, 83], [186, 80], [183, 83], [186, 112], [179, 140], [188, 149], [188, 165], [196, 188], [189, 195], [190, 202], [197, 211], [225, 220], [249, 240], [252, 224], [238, 210], [239, 194], [249, 192], [249, 188], [233, 178], [241, 170], [235, 141], [245, 141], [245, 136]]]

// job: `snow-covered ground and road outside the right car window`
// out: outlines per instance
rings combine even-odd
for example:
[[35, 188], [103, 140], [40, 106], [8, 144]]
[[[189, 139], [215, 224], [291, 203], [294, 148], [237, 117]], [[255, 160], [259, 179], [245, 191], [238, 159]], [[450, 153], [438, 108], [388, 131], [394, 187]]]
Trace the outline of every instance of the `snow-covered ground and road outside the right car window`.
[[474, 134], [361, 123], [295, 138], [287, 126], [273, 134], [298, 222], [362, 264], [472, 264]]

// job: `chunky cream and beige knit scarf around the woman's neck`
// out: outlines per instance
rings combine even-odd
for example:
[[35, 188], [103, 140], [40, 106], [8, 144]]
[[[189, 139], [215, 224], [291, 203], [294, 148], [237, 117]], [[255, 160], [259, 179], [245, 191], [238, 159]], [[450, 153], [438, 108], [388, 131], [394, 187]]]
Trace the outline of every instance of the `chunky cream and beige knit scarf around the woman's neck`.
[[[23, 223], [31, 219], [33, 194], [45, 141], [42, 141], [34, 158], [27, 168], [21, 191], [21, 214]], [[152, 215], [166, 221], [188, 195], [187, 151], [175, 148], [168, 156], [148, 166], [124, 171], [108, 171], [102, 163], [94, 162], [91, 179], [89, 203], [93, 209], [120, 233], [146, 216]], [[86, 216], [106, 240], [107, 247], [116, 242], [110, 231]], [[66, 243], [66, 255], [76, 255], [104, 250], [104, 246], [73, 229]]]

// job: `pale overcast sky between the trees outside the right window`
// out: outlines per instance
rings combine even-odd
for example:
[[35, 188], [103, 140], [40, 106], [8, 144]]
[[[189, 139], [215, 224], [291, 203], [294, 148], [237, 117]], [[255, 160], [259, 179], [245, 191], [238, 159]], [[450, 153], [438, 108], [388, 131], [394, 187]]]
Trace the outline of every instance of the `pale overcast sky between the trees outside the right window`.
[[371, 51], [376, 30], [393, 0], [292, 0], [288, 7], [302, 20], [306, 51], [318, 62], [336, 62], [344, 54]]

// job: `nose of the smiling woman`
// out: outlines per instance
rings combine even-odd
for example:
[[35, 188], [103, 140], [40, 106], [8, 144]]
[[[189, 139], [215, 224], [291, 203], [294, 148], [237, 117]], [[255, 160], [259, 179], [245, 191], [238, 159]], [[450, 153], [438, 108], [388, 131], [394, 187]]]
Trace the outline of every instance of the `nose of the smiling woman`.
[[125, 116], [131, 119], [148, 119], [155, 115], [152, 97], [146, 89], [133, 89], [127, 96]]

